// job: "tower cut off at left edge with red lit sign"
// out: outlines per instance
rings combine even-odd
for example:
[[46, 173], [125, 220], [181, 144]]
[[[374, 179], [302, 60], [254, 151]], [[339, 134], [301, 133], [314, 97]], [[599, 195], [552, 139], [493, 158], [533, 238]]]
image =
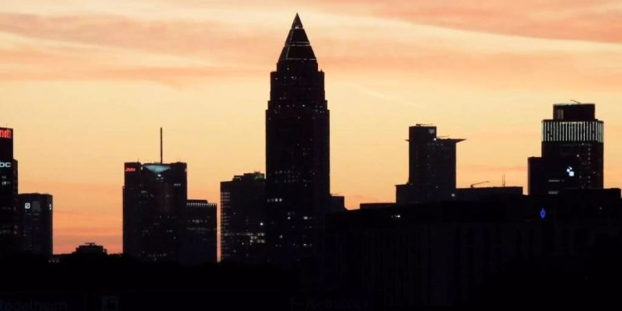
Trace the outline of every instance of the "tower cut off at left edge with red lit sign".
[[13, 129], [0, 127], [0, 257], [18, 249], [17, 160]]

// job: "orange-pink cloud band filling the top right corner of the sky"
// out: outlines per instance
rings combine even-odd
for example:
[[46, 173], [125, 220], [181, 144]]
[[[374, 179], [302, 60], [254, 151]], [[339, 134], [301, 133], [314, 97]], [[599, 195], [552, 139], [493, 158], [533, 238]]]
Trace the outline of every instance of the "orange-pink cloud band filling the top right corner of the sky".
[[446, 28], [547, 39], [622, 42], [616, 0], [321, 1], [325, 10]]

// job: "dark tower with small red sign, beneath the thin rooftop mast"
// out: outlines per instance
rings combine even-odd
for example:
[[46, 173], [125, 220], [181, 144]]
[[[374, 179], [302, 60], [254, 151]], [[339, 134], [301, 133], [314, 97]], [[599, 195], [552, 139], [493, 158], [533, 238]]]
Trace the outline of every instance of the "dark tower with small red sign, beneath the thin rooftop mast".
[[187, 165], [126, 162], [123, 252], [140, 261], [179, 261], [186, 227]]

